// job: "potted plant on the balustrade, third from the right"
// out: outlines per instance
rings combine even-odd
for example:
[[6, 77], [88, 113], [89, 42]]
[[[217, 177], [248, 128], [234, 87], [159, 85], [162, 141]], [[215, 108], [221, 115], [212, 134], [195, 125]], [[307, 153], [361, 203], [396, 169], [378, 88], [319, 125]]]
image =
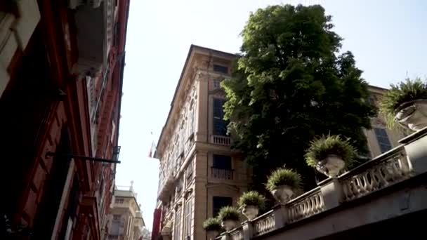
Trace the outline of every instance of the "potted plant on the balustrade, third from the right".
[[286, 204], [301, 188], [301, 175], [289, 168], [277, 168], [268, 177], [265, 187], [280, 204]]

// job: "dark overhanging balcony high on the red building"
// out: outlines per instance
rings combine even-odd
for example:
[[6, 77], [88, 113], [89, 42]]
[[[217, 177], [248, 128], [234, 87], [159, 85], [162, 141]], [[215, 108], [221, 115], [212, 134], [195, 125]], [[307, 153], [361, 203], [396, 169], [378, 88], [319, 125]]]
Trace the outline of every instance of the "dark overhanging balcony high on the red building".
[[96, 76], [107, 65], [114, 22], [113, 0], [71, 0], [68, 7], [75, 10], [79, 49], [73, 72]]

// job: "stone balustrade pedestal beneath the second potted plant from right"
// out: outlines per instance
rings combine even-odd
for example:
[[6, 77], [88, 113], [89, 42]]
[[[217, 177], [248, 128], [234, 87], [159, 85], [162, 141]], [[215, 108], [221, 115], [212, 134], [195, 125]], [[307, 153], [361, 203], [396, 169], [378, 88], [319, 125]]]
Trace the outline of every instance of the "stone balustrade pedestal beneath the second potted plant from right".
[[338, 178], [328, 178], [320, 182], [319, 185], [325, 211], [341, 204], [341, 201], [343, 201], [343, 187]]

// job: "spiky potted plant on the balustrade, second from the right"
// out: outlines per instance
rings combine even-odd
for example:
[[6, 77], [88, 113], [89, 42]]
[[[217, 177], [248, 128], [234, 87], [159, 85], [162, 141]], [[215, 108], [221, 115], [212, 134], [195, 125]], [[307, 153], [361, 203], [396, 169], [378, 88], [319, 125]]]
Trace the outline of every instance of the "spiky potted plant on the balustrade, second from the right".
[[346, 166], [350, 166], [357, 154], [357, 150], [350, 143], [350, 139], [343, 139], [340, 135], [323, 135], [310, 142], [306, 152], [306, 163], [317, 171], [336, 177]]

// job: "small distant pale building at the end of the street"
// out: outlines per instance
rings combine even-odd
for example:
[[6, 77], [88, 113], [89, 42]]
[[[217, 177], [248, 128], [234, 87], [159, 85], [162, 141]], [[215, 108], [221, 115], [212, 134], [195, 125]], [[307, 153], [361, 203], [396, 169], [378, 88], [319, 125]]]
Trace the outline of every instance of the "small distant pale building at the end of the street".
[[140, 240], [145, 222], [136, 201], [136, 193], [130, 187], [115, 187], [110, 214], [107, 215], [105, 240]]

